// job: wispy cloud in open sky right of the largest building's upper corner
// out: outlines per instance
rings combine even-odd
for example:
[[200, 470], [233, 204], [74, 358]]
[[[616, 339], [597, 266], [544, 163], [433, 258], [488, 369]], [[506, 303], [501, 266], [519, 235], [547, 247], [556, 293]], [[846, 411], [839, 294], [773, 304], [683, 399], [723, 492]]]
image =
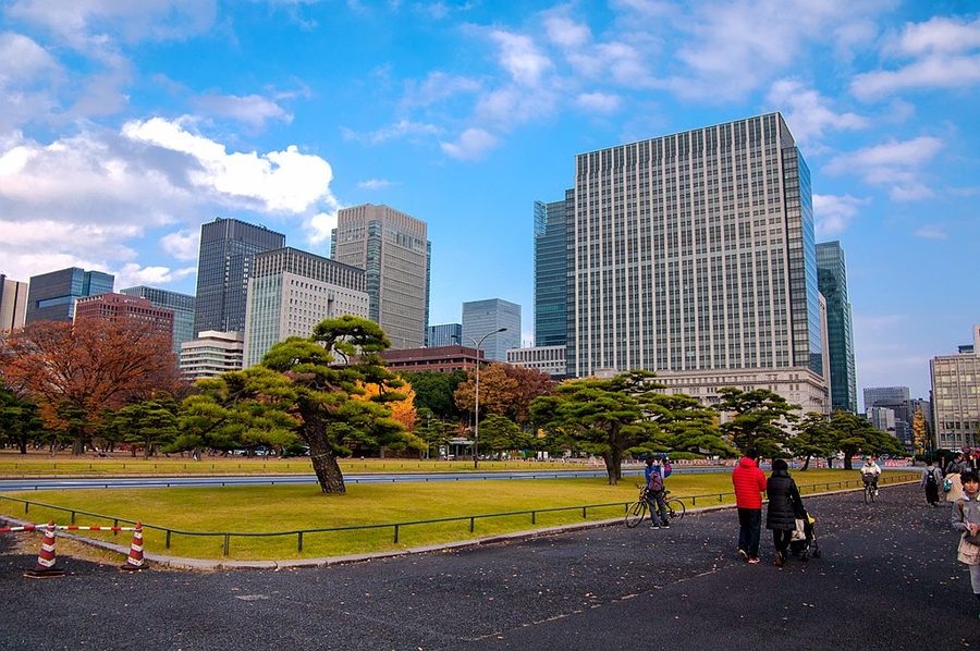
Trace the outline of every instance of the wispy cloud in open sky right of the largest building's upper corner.
[[931, 136], [892, 140], [833, 158], [823, 171], [829, 174], [859, 174], [873, 185], [889, 186], [893, 200], [910, 201], [933, 196], [922, 182], [921, 168], [942, 149], [943, 142]]

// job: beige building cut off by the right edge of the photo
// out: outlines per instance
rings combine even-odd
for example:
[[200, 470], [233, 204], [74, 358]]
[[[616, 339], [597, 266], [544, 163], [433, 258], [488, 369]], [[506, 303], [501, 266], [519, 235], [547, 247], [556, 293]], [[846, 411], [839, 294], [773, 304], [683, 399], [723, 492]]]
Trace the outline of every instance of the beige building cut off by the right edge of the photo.
[[980, 442], [980, 324], [973, 326], [973, 345], [963, 348], [929, 363], [935, 444], [945, 450], [976, 449]]

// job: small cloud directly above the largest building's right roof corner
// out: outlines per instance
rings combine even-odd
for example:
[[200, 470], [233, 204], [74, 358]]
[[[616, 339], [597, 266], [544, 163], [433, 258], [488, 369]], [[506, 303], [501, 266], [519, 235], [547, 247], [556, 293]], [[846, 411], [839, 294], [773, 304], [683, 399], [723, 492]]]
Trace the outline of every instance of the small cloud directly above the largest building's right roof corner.
[[857, 131], [868, 126], [868, 120], [856, 113], [834, 112], [829, 98], [798, 79], [777, 81], [767, 99], [784, 112], [794, 137], [803, 144], [819, 143], [829, 130]]

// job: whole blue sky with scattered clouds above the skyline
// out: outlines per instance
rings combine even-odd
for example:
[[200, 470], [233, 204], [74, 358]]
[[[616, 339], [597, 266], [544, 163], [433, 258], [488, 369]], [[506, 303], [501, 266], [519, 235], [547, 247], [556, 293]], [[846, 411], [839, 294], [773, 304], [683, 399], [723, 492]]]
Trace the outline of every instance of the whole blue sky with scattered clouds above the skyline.
[[431, 322], [518, 303], [574, 156], [771, 110], [842, 241], [859, 388], [928, 394], [980, 321], [976, 2], [0, 0], [0, 272], [194, 292], [217, 216], [329, 251], [428, 222]]

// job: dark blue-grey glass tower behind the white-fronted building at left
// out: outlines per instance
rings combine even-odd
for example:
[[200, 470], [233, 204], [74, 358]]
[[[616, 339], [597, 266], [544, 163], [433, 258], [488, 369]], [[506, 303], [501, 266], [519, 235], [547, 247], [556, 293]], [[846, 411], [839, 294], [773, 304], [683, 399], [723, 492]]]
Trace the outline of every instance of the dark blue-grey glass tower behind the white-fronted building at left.
[[245, 302], [255, 254], [282, 248], [285, 235], [236, 219], [200, 226], [194, 334], [245, 331]]

